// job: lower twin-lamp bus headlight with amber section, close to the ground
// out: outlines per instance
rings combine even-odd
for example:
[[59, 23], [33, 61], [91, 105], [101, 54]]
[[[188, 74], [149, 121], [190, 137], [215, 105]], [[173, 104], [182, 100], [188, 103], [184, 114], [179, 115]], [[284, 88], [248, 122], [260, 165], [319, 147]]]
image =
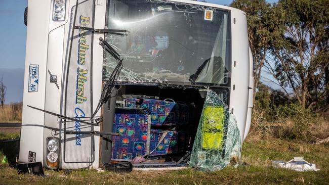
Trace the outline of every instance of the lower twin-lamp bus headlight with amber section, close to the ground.
[[59, 139], [57, 137], [48, 137], [47, 149], [47, 166], [56, 168], [58, 166]]

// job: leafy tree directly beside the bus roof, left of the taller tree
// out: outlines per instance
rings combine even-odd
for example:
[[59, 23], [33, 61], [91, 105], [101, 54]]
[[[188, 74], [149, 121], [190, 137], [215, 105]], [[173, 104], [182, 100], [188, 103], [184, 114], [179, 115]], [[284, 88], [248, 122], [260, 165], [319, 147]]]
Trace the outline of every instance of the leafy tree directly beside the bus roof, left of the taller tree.
[[281, 22], [273, 12], [272, 5], [265, 0], [235, 0], [231, 7], [246, 13], [248, 21], [248, 37], [254, 60], [254, 100], [259, 85], [261, 72], [270, 52], [270, 45], [274, 41], [276, 27]]

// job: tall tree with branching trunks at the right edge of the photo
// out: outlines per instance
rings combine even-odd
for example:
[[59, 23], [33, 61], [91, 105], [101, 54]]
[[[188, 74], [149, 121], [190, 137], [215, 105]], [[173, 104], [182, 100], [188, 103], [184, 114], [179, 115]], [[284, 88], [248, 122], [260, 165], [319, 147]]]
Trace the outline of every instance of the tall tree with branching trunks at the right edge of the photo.
[[[303, 108], [310, 108], [326, 97], [328, 69], [327, 0], [280, 0], [275, 7], [284, 23], [271, 45], [274, 66], [268, 70], [285, 89], [292, 89]], [[282, 29], [283, 28], [283, 29]]]

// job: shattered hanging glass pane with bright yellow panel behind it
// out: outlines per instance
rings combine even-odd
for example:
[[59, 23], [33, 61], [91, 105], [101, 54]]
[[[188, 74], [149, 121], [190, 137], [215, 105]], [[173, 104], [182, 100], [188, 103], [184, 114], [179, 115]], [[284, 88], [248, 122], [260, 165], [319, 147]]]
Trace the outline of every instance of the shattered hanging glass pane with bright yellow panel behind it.
[[225, 101], [208, 90], [192, 149], [190, 166], [202, 171], [215, 171], [241, 157], [240, 132]]

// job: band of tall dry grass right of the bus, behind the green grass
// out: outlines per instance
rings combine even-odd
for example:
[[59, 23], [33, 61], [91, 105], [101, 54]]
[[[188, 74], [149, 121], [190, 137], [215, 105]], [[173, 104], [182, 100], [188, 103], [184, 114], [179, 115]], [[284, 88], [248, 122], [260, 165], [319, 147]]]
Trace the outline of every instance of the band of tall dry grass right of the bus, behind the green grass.
[[282, 138], [303, 140], [314, 143], [329, 136], [329, 120], [320, 115], [301, 113], [289, 117], [279, 117], [272, 121], [266, 120], [266, 111], [253, 110], [251, 137], [258, 139]]

